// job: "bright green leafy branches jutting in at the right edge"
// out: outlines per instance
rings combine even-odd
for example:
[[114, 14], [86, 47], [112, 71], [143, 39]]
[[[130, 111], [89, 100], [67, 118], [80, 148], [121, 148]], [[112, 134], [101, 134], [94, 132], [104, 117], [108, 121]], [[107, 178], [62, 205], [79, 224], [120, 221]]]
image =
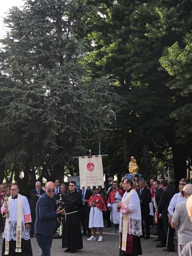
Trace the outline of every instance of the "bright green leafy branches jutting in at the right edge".
[[167, 86], [176, 91], [174, 101], [178, 108], [171, 113], [171, 118], [177, 120], [176, 135], [182, 144], [191, 139], [192, 132], [192, 34], [186, 33], [183, 39], [185, 47], [181, 48], [179, 43], [174, 43], [165, 49], [160, 63], [172, 79]]

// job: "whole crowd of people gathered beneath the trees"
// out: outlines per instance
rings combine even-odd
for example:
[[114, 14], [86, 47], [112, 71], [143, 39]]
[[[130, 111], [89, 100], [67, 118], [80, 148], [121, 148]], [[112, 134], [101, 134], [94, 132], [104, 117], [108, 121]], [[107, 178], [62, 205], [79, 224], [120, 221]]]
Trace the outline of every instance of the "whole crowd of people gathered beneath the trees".
[[120, 235], [120, 256], [142, 255], [141, 239], [150, 239], [152, 227], [157, 230], [154, 246], [174, 252], [176, 232], [178, 255], [192, 255], [192, 184], [180, 180], [178, 193], [163, 178], [150, 179], [149, 185], [140, 180], [138, 185], [125, 179], [120, 186], [113, 175], [108, 176], [106, 191], [99, 187], [77, 191], [74, 181], [60, 184], [55, 179], [45, 186], [37, 181], [28, 201], [17, 184], [1, 184], [2, 255], [32, 255], [34, 235], [41, 256], [50, 256], [52, 239], [59, 238], [64, 252], [75, 253], [83, 248], [83, 236], [103, 241], [104, 217], [106, 227], [113, 225], [111, 232]]

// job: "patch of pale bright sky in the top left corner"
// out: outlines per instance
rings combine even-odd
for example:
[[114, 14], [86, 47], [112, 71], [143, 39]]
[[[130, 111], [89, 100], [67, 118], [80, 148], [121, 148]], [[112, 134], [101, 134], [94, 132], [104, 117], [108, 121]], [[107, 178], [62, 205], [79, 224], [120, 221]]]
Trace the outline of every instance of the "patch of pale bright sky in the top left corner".
[[9, 8], [14, 6], [22, 6], [24, 1], [22, 0], [1, 0], [1, 8], [0, 8], [0, 38], [3, 38], [4, 35], [6, 35], [6, 32], [4, 31], [4, 24], [3, 24], [3, 18], [5, 17], [5, 13], [8, 11]]

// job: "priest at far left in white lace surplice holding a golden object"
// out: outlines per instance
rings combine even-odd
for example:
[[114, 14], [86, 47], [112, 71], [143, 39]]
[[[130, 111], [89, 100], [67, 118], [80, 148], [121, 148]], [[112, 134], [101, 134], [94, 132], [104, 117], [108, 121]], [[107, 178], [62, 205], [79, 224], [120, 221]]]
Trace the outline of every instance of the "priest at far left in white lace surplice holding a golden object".
[[18, 185], [11, 186], [11, 196], [8, 198], [8, 210], [5, 202], [1, 214], [6, 213], [6, 224], [3, 234], [2, 255], [32, 256], [29, 236], [31, 213], [26, 196], [19, 194]]

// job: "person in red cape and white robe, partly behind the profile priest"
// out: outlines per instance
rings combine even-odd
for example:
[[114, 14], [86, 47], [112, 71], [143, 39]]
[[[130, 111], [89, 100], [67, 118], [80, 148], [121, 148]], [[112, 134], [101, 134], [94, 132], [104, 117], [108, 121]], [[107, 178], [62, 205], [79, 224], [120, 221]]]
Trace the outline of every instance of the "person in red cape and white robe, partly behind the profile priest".
[[119, 220], [120, 220], [120, 211], [117, 212], [117, 203], [121, 201], [124, 191], [121, 188], [118, 188], [117, 181], [113, 181], [113, 190], [110, 192], [107, 207], [109, 208], [111, 215], [110, 221], [113, 222], [114, 230], [111, 233], [119, 233]]

